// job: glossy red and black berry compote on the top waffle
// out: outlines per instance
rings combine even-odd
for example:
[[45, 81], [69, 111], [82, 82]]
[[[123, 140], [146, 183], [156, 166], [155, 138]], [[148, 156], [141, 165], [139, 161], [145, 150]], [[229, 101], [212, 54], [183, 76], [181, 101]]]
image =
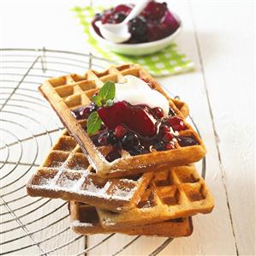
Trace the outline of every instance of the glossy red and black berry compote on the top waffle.
[[169, 115], [164, 116], [161, 108], [151, 109], [145, 104], [131, 105], [120, 101], [110, 107], [100, 108], [92, 103], [72, 112], [80, 120], [86, 119], [92, 111], [98, 112], [103, 123], [91, 139], [95, 146], [111, 146], [106, 156], [109, 162], [121, 158], [122, 149], [135, 156], [173, 150], [176, 143], [180, 146], [198, 144], [193, 137], [179, 134], [187, 126], [171, 108]]

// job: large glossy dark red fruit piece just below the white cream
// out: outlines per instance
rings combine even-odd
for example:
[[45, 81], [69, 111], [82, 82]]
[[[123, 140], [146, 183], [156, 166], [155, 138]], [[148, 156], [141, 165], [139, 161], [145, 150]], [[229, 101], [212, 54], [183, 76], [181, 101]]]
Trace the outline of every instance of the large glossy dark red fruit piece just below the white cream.
[[157, 133], [157, 120], [146, 106], [133, 106], [121, 101], [108, 108], [98, 109], [98, 116], [110, 130], [122, 124], [141, 136], [151, 137]]

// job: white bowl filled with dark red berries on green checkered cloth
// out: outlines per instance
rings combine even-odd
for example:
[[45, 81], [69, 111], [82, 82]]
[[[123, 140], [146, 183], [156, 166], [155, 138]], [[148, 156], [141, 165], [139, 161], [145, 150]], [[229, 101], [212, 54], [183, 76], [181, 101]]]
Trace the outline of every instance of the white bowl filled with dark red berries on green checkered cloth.
[[182, 29], [182, 22], [168, 9], [167, 3], [150, 1], [139, 15], [127, 22], [130, 38], [122, 43], [105, 39], [98, 24], [121, 24], [134, 9], [134, 4], [120, 4], [94, 15], [90, 33], [110, 51], [133, 56], [152, 54], [170, 45]]

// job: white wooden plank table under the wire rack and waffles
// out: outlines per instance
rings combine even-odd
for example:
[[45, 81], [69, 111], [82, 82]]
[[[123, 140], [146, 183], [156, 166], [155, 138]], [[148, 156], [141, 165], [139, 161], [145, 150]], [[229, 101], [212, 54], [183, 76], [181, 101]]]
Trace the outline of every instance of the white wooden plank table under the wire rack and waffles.
[[[106, 1], [92, 3], [96, 2], [104, 4]], [[76, 4], [85, 5], [89, 1], [2, 0], [0, 48], [46, 47], [87, 53], [82, 27], [69, 11]], [[184, 24], [176, 42], [193, 60], [196, 70], [159, 81], [190, 106], [208, 150], [205, 180], [215, 196], [216, 206], [209, 215], [193, 217], [193, 235], [171, 241], [158, 255], [255, 255], [253, 1], [173, 0], [169, 4]], [[52, 118], [57, 122], [56, 116]], [[3, 122], [1, 128], [4, 128]], [[57, 134], [53, 137], [57, 138]], [[44, 146], [40, 158], [50, 148], [50, 145]], [[15, 176], [10, 178], [15, 179]], [[46, 208], [47, 205], [45, 212]], [[17, 212], [16, 217], [19, 214]], [[59, 223], [58, 228], [66, 228], [67, 221]], [[1, 231], [6, 227], [8, 225], [1, 226]], [[54, 234], [57, 231], [50, 229], [47, 232]], [[40, 241], [40, 233], [38, 235], [35, 241]], [[100, 236], [87, 237], [87, 246], [100, 239]], [[116, 253], [132, 239], [116, 235], [88, 255]], [[148, 255], [165, 240], [140, 237], [120, 254]], [[14, 245], [9, 243], [2, 248], [5, 251], [7, 246], [21, 247], [22, 243], [20, 239]], [[47, 243], [46, 246], [50, 247]], [[84, 243], [80, 240], [57, 254], [73, 255], [83, 248]], [[14, 254], [37, 253], [27, 248]]]

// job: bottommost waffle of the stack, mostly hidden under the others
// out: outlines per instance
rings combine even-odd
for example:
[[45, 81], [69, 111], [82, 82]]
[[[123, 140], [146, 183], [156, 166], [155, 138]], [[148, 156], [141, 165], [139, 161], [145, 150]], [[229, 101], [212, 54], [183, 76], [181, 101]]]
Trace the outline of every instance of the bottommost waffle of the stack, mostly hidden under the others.
[[70, 202], [71, 229], [82, 235], [122, 233], [126, 235], [158, 235], [179, 237], [188, 236], [193, 232], [191, 217], [167, 220], [162, 223], [152, 223], [141, 226], [133, 226], [126, 229], [110, 227], [104, 229], [99, 223], [96, 208], [91, 205]]

